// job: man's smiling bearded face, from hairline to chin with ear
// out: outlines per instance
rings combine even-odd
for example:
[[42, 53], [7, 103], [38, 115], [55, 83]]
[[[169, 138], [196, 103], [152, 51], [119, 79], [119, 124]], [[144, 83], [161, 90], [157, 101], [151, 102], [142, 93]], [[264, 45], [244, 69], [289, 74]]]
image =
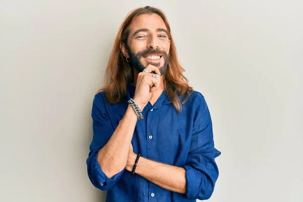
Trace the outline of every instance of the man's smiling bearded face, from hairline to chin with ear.
[[142, 14], [134, 18], [129, 27], [128, 44], [122, 53], [132, 67], [142, 72], [147, 65], [166, 71], [169, 60], [170, 39], [163, 19], [157, 14]]

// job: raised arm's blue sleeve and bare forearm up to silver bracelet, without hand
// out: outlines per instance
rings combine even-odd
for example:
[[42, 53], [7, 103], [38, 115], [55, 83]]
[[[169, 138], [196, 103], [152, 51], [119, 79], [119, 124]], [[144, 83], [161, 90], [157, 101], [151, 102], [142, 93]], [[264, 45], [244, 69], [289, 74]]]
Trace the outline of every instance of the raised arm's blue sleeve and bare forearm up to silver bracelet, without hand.
[[93, 138], [86, 161], [89, 179], [102, 190], [110, 189], [122, 176], [137, 121], [136, 113], [128, 106], [115, 130], [105, 106], [105, 93], [95, 95], [91, 112]]

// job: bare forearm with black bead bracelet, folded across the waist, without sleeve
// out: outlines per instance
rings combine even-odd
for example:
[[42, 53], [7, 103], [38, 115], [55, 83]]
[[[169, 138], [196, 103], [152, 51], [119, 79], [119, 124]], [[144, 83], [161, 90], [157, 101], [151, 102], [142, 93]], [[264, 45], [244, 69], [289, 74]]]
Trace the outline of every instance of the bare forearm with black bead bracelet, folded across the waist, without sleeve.
[[[130, 150], [125, 167], [126, 170], [132, 171], [136, 157], [137, 155]], [[135, 173], [165, 189], [179, 193], [185, 193], [186, 191], [184, 168], [140, 157]]]

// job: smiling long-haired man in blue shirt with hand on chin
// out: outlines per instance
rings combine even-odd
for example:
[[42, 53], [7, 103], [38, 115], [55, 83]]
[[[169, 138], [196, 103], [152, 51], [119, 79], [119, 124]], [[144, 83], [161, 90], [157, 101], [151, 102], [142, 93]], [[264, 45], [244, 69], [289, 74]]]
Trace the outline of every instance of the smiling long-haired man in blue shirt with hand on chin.
[[165, 14], [132, 11], [122, 23], [93, 99], [87, 159], [106, 201], [196, 201], [219, 171], [204, 96], [188, 85]]

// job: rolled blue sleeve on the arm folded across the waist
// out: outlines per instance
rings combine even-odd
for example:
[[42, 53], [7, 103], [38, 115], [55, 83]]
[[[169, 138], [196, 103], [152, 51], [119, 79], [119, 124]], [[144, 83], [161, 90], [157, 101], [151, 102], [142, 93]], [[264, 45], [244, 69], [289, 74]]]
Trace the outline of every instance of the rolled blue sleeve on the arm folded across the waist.
[[[201, 96], [201, 97], [200, 97]], [[202, 94], [193, 117], [193, 131], [186, 165], [186, 199], [209, 199], [214, 191], [219, 170], [215, 158], [221, 152], [214, 147], [211, 115]]]

